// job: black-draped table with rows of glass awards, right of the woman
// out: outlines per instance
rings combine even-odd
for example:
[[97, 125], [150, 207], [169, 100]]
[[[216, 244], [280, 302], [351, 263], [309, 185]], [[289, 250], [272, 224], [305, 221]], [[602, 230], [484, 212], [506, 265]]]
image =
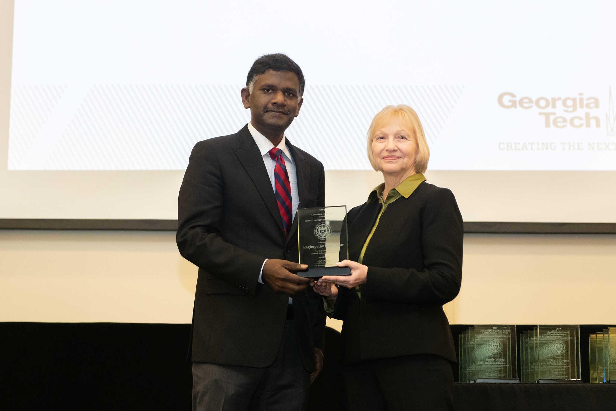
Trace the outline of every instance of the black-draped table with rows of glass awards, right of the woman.
[[613, 409], [614, 325], [451, 325], [456, 411]]

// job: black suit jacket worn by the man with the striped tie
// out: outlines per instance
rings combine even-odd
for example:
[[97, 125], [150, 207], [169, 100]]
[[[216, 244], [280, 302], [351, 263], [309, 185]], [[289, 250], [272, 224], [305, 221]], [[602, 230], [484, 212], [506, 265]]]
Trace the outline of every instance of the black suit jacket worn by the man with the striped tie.
[[[287, 145], [296, 164], [299, 208], [323, 206], [320, 161]], [[177, 247], [199, 267], [192, 322], [192, 360], [267, 367], [276, 357], [288, 295], [258, 282], [265, 258], [298, 261], [297, 222], [285, 238], [261, 153], [244, 126], [198, 142], [179, 194]], [[293, 298], [299, 352], [314, 370], [323, 348], [325, 312], [309, 288]]]

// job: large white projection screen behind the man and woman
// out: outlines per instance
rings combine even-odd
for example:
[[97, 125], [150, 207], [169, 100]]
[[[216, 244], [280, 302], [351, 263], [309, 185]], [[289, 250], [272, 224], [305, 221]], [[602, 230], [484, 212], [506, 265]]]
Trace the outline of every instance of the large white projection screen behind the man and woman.
[[408, 104], [429, 182], [466, 221], [616, 222], [614, 16], [613, 1], [15, 0], [0, 218], [174, 218], [192, 146], [248, 121], [248, 68], [285, 52], [306, 76], [287, 135], [336, 202], [378, 182], [368, 124]]

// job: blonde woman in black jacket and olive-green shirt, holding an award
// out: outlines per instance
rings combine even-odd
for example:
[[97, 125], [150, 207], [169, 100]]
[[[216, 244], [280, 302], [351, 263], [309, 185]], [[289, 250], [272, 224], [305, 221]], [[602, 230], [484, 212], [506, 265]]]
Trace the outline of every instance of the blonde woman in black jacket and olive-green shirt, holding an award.
[[387, 106], [368, 129], [383, 184], [347, 215], [351, 275], [313, 282], [344, 320], [349, 410], [453, 410], [456, 354], [443, 304], [462, 279], [462, 216], [448, 189], [428, 184], [430, 157], [415, 110]]

